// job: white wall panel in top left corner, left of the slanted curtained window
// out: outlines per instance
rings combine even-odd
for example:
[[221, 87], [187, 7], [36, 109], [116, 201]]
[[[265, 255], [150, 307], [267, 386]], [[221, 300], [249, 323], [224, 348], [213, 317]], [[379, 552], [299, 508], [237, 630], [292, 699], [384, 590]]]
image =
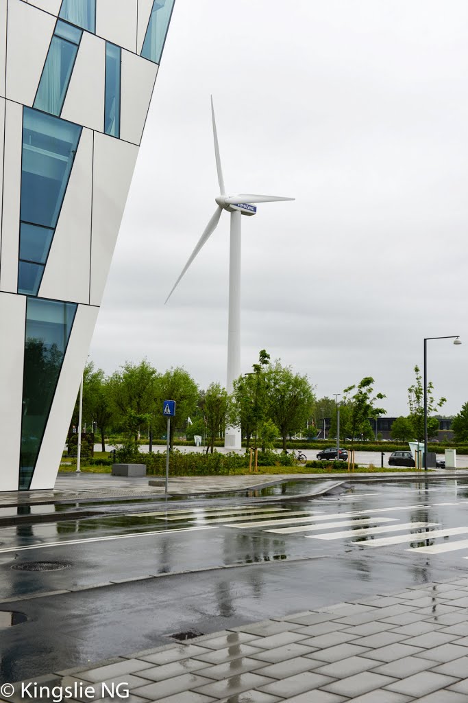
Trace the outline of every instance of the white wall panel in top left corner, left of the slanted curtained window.
[[6, 97], [10, 100], [32, 107], [54, 27], [53, 15], [21, 0], [8, 0]]

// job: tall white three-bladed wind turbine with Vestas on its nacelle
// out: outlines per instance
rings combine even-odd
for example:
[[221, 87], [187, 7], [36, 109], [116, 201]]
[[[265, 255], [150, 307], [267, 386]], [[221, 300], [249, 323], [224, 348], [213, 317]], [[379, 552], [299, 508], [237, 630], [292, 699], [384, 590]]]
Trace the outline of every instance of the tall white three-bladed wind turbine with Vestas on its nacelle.
[[[215, 214], [206, 225], [201, 238], [199, 239], [192, 254], [189, 256], [187, 264], [182, 269], [182, 273], [175, 281], [171, 292], [166, 298], [173, 294], [182, 276], [192, 264], [196, 254], [199, 253], [204, 244], [215, 231], [220, 221], [223, 210], [231, 213], [231, 239], [229, 245], [229, 317], [227, 332], [227, 382], [226, 389], [232, 393], [233, 381], [241, 375], [241, 216], [255, 215], [258, 202], [276, 202], [278, 200], [295, 200], [295, 198], [281, 198], [276, 195], [251, 195], [238, 193], [237, 195], [227, 195], [225, 181], [222, 177], [220, 146], [218, 144], [218, 131], [216, 130], [215, 108], [213, 107], [213, 97], [211, 98], [211, 116], [213, 119], [213, 138], [215, 141], [216, 169], [218, 170], [218, 183], [220, 184], [220, 195], [215, 198], [218, 207]], [[166, 304], [165, 303], [165, 304]], [[229, 449], [241, 449], [241, 430], [239, 427], [226, 427], [225, 447]]]

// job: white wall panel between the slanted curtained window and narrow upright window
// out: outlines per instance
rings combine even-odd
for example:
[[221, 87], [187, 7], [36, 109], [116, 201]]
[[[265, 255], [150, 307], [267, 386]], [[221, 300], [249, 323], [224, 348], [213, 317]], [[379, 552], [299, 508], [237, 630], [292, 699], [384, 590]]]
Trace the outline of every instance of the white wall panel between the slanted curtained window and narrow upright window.
[[104, 130], [106, 44], [83, 32], [60, 117]]

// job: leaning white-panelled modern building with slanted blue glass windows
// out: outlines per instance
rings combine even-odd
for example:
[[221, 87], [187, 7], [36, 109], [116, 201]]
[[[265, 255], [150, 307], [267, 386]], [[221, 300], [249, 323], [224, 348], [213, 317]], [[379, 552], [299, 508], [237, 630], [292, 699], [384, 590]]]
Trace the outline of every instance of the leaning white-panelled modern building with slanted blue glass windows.
[[0, 0], [0, 491], [51, 489], [174, 0]]

